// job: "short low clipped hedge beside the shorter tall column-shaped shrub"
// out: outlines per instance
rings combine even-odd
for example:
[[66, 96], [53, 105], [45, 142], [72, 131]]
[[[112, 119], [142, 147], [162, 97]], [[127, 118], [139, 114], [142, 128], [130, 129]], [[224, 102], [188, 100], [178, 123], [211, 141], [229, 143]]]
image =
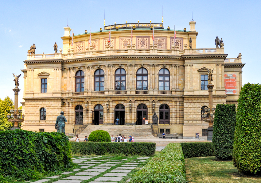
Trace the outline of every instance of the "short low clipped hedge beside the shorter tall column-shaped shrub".
[[214, 156], [212, 142], [184, 142], [181, 147], [185, 158]]

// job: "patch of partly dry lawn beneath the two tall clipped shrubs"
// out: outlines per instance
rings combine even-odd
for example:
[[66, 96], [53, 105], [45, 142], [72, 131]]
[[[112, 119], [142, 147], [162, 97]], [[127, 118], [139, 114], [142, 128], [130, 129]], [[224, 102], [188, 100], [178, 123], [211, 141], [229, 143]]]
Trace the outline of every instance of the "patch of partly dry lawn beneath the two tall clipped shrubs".
[[216, 161], [215, 157], [185, 159], [187, 180], [191, 183], [261, 183], [261, 176], [241, 176], [232, 161]]

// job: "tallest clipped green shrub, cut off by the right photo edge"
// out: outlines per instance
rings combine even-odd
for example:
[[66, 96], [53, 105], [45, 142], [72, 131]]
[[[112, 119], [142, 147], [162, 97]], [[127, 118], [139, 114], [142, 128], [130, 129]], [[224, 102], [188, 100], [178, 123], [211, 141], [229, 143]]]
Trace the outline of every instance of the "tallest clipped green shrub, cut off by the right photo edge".
[[241, 88], [236, 115], [233, 163], [239, 172], [261, 174], [261, 85]]

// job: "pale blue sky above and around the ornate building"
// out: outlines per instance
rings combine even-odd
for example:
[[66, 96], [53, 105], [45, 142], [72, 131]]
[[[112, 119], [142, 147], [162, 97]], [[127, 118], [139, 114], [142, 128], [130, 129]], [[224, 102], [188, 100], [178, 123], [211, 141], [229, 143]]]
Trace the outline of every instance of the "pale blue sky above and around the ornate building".
[[[34, 43], [36, 54], [53, 53], [56, 42], [62, 48], [60, 37], [68, 25], [73, 32], [99, 31], [116, 23], [149, 22], [164, 27], [189, 30], [189, 21], [196, 21], [197, 48], [215, 48], [216, 36], [223, 38], [228, 58], [242, 54], [242, 83], [261, 83], [259, 58], [261, 30], [261, 1], [1, 1], [0, 2], [0, 98], [14, 99], [14, 77], [21, 74], [27, 50]], [[23, 74], [19, 80], [22, 101]], [[19, 104], [20, 105], [20, 104]]]

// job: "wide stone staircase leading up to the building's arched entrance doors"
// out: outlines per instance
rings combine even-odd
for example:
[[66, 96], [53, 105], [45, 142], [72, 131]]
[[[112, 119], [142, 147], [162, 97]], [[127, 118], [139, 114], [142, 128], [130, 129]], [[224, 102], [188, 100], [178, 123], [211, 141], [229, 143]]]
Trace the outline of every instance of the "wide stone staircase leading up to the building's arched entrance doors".
[[89, 137], [90, 133], [95, 130], [107, 131], [110, 136], [125, 135], [128, 139], [130, 135], [135, 138], [158, 138], [152, 135], [150, 125], [88, 125], [82, 132], [80, 132], [79, 138], [84, 139], [85, 136]]

